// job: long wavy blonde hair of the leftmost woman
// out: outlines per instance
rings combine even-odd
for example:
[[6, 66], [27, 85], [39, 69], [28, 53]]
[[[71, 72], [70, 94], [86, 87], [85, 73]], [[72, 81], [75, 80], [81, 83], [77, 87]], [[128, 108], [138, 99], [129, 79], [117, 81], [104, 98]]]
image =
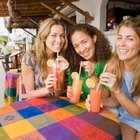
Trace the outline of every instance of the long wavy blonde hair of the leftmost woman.
[[[60, 51], [60, 55], [64, 56], [65, 50], [66, 50], [67, 44], [68, 44], [67, 35], [66, 35], [66, 27], [63, 22], [61, 22], [58, 19], [54, 19], [54, 18], [48, 18], [41, 22], [40, 28], [39, 28], [39, 31], [38, 31], [38, 34], [37, 34], [37, 37], [35, 40], [35, 44], [33, 45], [31, 52], [36, 56], [38, 65], [41, 68], [41, 71], [43, 73], [46, 72], [47, 60], [49, 59], [48, 55], [47, 55], [47, 47], [45, 45], [44, 40], [49, 35], [51, 27], [53, 25], [61, 25], [65, 31], [65, 43], [64, 43], [62, 50]], [[55, 55], [56, 54], [52, 52], [52, 56], [50, 56], [50, 57], [54, 58]]]

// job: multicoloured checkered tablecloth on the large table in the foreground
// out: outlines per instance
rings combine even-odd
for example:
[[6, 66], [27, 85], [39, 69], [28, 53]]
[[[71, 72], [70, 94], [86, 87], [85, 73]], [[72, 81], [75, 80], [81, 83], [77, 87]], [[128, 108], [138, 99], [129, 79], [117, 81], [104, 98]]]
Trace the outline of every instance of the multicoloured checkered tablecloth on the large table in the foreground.
[[121, 139], [117, 118], [107, 108], [88, 112], [85, 102], [35, 98], [0, 109], [2, 140], [115, 140]]

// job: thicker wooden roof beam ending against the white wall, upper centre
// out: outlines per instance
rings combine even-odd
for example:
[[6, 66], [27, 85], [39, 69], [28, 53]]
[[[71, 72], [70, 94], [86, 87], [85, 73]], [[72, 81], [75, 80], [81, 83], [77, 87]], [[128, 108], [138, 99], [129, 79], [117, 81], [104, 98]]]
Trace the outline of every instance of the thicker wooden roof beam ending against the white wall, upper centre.
[[71, 7], [75, 11], [78, 11], [79, 13], [84, 15], [89, 21], [94, 20], [94, 17], [90, 16], [89, 12], [85, 12], [85, 11], [81, 10], [80, 8], [78, 8], [77, 6], [75, 6], [74, 4], [72, 4], [71, 2], [69, 2], [67, 0], [60, 0], [60, 1], [64, 2], [67, 6]]

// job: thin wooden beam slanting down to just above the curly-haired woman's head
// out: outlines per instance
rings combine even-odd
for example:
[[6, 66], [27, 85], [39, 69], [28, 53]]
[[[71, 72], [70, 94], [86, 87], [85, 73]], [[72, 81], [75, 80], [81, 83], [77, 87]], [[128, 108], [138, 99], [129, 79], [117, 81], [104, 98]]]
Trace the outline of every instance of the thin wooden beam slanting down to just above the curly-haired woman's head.
[[69, 19], [67, 16], [65, 16], [64, 14], [62, 14], [61, 12], [59, 12], [56, 9], [51, 8], [49, 5], [44, 4], [44, 3], [40, 3], [42, 6], [44, 6], [45, 8], [51, 10], [52, 12], [54, 12], [55, 14], [58, 14], [59, 16], [61, 16], [63, 19], [67, 20], [69, 23], [71, 23], [72, 25], [76, 25], [77, 23], [74, 22], [73, 20]]

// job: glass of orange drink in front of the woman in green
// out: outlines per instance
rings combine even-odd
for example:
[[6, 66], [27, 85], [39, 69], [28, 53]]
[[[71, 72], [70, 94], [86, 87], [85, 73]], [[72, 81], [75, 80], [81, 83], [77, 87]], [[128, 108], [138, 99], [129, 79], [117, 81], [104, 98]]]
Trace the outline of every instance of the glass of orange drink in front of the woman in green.
[[83, 84], [83, 80], [79, 79], [79, 77], [73, 79], [72, 96], [70, 99], [71, 103], [79, 103], [80, 95], [81, 95], [81, 91], [82, 91], [82, 84]]

